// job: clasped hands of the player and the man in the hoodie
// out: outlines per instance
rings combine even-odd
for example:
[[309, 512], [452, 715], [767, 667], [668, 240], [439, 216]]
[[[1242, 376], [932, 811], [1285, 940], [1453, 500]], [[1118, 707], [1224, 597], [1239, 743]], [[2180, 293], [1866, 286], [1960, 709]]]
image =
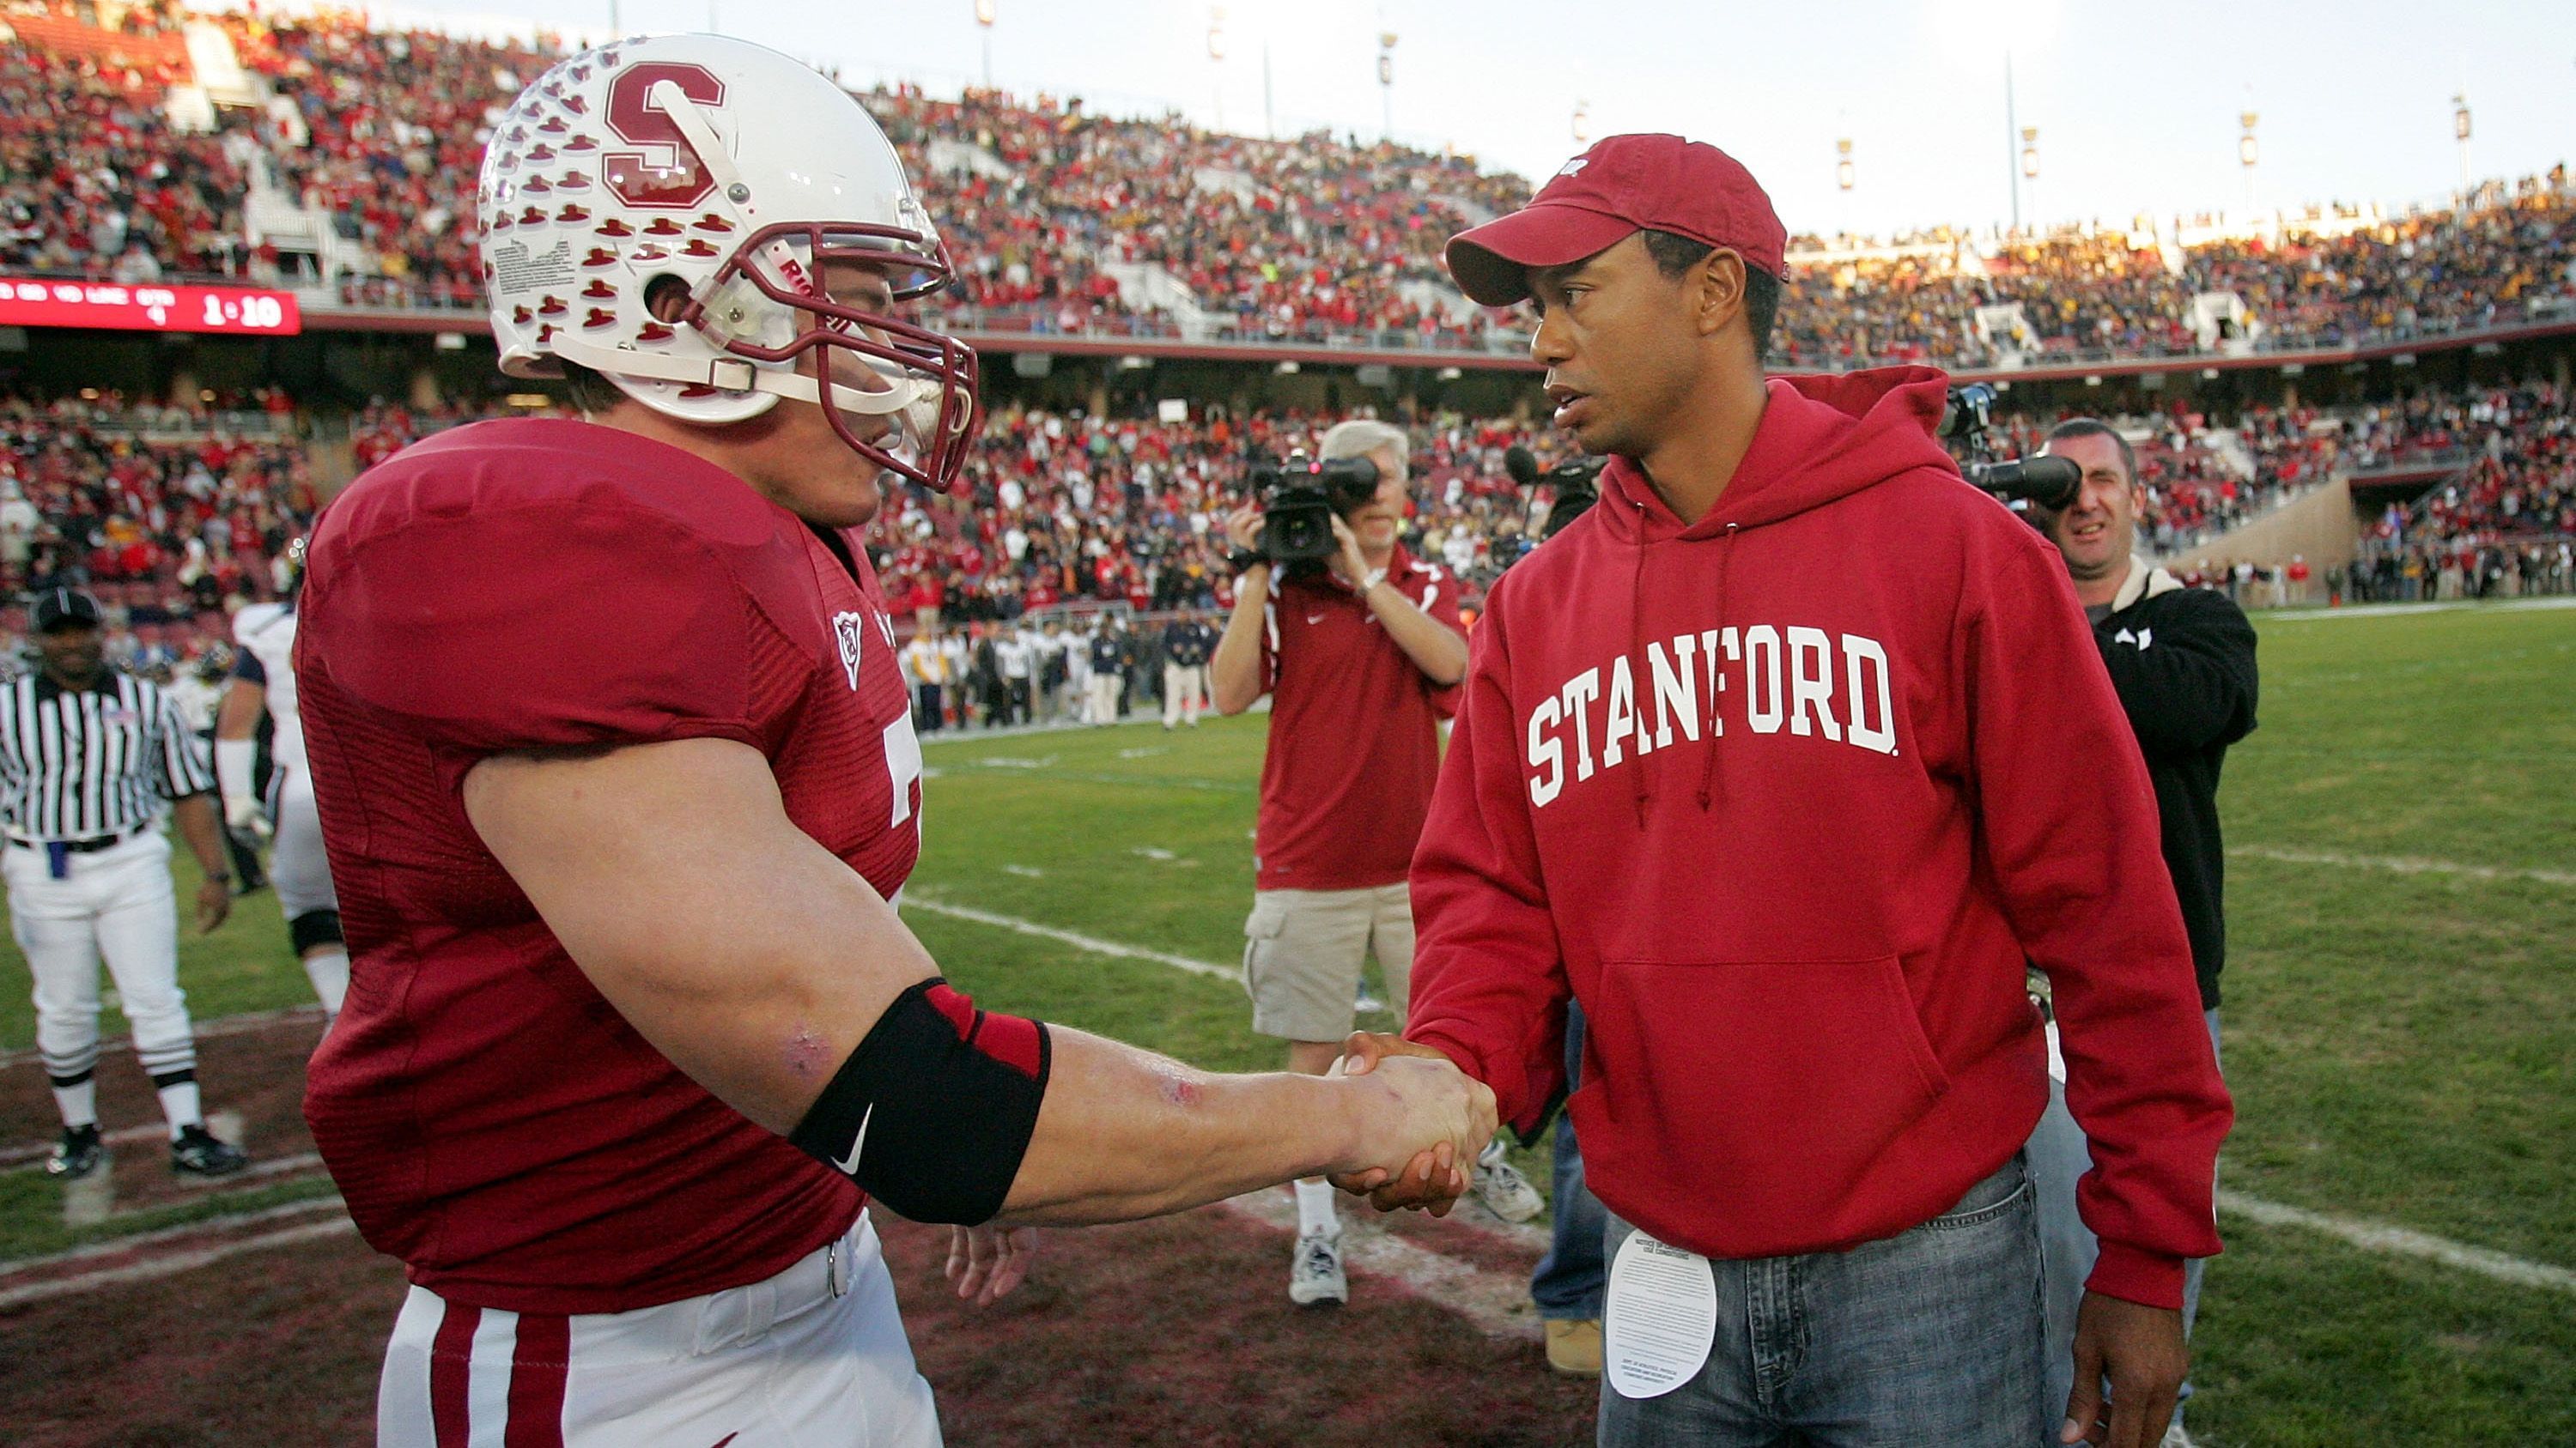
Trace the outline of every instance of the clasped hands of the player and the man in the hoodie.
[[1494, 1139], [1494, 1092], [1432, 1046], [1358, 1031], [1334, 1077], [1363, 1092], [1352, 1103], [1358, 1144], [1332, 1185], [1378, 1211], [1419, 1208], [1448, 1216], [1466, 1196], [1476, 1152]]

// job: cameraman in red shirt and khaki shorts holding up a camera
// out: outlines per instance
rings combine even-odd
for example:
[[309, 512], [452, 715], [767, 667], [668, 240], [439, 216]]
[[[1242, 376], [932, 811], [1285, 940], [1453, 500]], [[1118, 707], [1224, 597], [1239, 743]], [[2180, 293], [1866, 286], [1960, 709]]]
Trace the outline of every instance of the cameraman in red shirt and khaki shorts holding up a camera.
[[[1332, 518], [1340, 554], [1324, 567], [1278, 577], [1260, 554], [1260, 505], [1226, 518], [1242, 577], [1208, 667], [1216, 711], [1273, 696], [1244, 987], [1252, 1028], [1283, 1036], [1288, 1069], [1311, 1077], [1342, 1054], [1370, 951], [1404, 1018], [1414, 971], [1404, 873], [1440, 773], [1448, 691], [1466, 678], [1455, 580], [1396, 541], [1404, 451], [1404, 430], [1386, 423], [1324, 433], [1324, 461], [1378, 466], [1378, 490]], [[1296, 1183], [1296, 1208], [1288, 1299], [1350, 1301], [1332, 1188]]]

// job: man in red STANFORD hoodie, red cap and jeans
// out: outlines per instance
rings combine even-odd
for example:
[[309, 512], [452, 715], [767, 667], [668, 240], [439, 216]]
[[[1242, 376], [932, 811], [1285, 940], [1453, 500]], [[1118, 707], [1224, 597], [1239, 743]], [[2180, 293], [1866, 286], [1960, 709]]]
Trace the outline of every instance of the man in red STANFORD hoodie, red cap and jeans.
[[[1486, 600], [1406, 1038], [1350, 1064], [1440, 1051], [1522, 1129], [1574, 1085], [1605, 1445], [2027, 1448], [2063, 1407], [2063, 1443], [2148, 1448], [2231, 1118], [2156, 799], [2056, 551], [1935, 441], [1947, 379], [1762, 376], [1785, 240], [1723, 152], [1610, 137], [1450, 242], [1468, 296], [1538, 301], [1556, 423], [1610, 466]], [[2025, 964], [2102, 1239], [2066, 1404]]]

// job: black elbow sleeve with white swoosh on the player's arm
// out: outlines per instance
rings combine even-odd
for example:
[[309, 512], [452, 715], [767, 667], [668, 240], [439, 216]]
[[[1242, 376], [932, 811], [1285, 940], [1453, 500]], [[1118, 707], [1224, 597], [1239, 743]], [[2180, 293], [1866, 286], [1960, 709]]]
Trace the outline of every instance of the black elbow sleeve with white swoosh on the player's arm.
[[894, 997], [788, 1134], [912, 1221], [992, 1221], [1038, 1129], [1046, 1025], [933, 976]]

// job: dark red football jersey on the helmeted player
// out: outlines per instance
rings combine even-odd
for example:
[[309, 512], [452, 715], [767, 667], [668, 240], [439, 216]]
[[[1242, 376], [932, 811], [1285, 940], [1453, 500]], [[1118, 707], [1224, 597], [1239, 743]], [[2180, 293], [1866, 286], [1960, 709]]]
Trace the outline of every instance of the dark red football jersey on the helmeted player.
[[590, 423], [456, 428], [314, 528], [296, 680], [350, 989], [304, 1113], [366, 1239], [507, 1311], [768, 1278], [860, 1193], [590, 987], [466, 822], [502, 750], [739, 739], [894, 897], [920, 770], [868, 569], [742, 479]]

